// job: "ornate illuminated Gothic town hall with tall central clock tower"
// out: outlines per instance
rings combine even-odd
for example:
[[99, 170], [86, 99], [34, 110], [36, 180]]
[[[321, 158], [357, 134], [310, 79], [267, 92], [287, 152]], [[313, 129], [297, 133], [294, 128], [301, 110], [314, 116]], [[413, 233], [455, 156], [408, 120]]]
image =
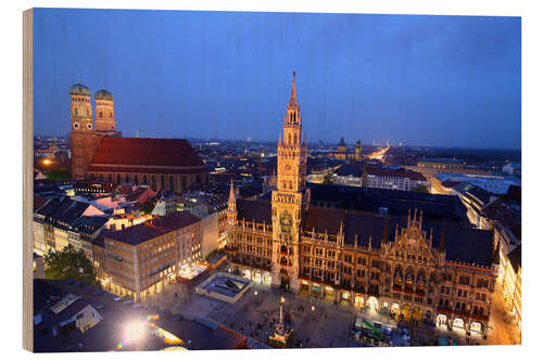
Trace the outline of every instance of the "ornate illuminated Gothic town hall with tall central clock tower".
[[[295, 82], [278, 143], [272, 199], [230, 185], [233, 271], [256, 282], [346, 301], [401, 320], [485, 334], [498, 256], [492, 232], [311, 205]], [[434, 234], [435, 230], [435, 234]]]

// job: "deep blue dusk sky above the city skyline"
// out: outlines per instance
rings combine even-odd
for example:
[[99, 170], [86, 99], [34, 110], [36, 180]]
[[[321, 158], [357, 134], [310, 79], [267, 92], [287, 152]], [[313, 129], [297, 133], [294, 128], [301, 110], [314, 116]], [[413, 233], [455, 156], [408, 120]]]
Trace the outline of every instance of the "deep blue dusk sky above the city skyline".
[[276, 140], [291, 74], [310, 141], [520, 149], [520, 17], [37, 9], [35, 132], [70, 87], [125, 137]]

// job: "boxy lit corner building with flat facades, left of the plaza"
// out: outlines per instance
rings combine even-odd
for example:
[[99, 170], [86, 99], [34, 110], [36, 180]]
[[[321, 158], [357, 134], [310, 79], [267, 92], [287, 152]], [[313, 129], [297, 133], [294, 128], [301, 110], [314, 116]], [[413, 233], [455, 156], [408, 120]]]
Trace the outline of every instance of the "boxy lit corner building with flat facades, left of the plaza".
[[102, 287], [135, 301], [160, 293], [184, 267], [201, 260], [200, 219], [187, 211], [104, 232], [93, 244]]

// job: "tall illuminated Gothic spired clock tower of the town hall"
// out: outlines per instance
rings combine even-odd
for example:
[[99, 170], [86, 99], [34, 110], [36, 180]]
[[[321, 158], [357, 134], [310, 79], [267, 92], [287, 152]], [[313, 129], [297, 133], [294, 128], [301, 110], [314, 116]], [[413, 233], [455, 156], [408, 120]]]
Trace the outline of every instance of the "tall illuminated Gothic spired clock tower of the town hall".
[[277, 144], [277, 189], [272, 192], [274, 227], [272, 285], [298, 291], [302, 218], [310, 203], [306, 191], [307, 143], [302, 142], [302, 117], [295, 72], [282, 137]]

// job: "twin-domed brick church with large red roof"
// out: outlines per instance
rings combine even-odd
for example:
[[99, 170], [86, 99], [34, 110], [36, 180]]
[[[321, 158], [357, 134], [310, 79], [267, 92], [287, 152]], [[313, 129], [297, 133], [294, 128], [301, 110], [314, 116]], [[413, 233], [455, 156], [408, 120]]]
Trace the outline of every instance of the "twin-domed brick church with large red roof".
[[207, 169], [185, 139], [122, 138], [113, 95], [96, 92], [96, 128], [90, 90], [70, 89], [72, 177], [116, 183], [148, 184], [154, 191], [185, 192], [207, 181]]

